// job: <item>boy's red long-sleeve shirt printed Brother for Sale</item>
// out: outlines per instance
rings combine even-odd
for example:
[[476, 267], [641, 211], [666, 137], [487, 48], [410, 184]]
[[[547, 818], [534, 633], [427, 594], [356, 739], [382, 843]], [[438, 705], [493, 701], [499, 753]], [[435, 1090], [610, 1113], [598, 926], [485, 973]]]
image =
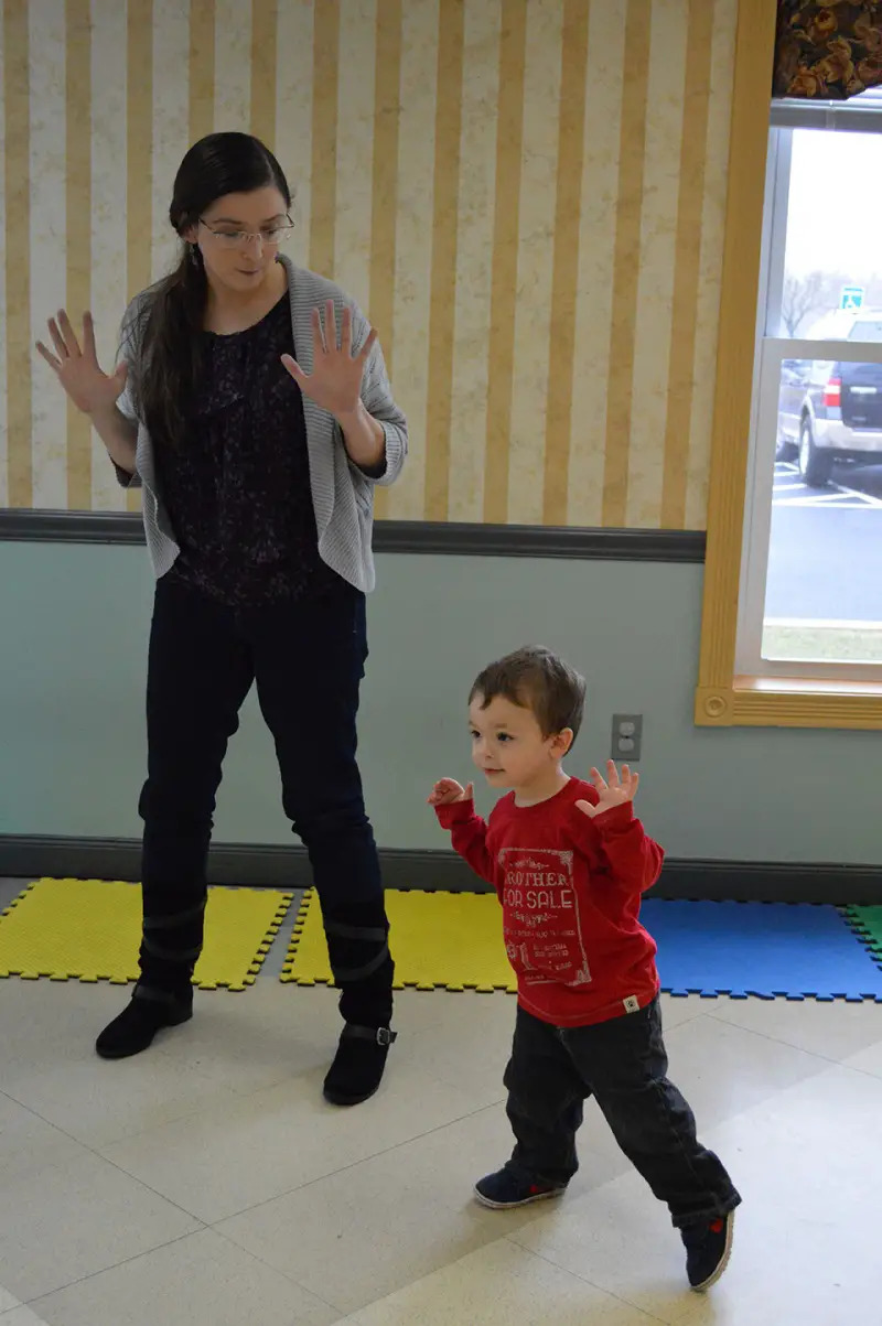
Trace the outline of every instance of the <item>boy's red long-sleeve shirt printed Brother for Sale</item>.
[[438, 808], [455, 850], [503, 904], [520, 1005], [554, 1026], [637, 1012], [659, 988], [657, 945], [639, 908], [664, 854], [630, 801], [593, 819], [577, 801], [597, 805], [597, 792], [570, 778], [536, 806], [517, 806], [509, 793], [488, 823], [471, 801]]

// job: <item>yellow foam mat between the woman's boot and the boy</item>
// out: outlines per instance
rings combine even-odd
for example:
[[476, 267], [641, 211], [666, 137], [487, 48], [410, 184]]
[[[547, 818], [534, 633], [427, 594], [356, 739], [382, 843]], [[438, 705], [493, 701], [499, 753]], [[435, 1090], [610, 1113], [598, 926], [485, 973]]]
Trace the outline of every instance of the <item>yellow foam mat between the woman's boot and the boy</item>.
[[[395, 959], [395, 989], [508, 991], [512, 972], [503, 944], [496, 894], [386, 892]], [[280, 977], [297, 985], [333, 984], [318, 896], [304, 895]]]

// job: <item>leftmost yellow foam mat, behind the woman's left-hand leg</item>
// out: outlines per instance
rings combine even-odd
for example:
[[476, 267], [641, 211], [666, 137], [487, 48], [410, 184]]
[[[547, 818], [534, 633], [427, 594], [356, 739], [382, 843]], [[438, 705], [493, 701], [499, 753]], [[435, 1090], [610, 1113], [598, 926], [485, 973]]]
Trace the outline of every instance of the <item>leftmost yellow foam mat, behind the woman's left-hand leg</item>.
[[[292, 896], [271, 888], [210, 888], [194, 984], [252, 985]], [[0, 916], [0, 976], [125, 985], [138, 977], [139, 941], [138, 884], [40, 879]]]

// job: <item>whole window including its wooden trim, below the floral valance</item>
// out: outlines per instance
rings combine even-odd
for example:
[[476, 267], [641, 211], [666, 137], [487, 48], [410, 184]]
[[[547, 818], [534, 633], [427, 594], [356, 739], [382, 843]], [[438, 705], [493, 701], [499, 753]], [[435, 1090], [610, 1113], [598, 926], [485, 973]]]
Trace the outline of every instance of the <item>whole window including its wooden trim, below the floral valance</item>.
[[769, 117], [763, 8], [739, 16], [696, 721], [882, 727], [882, 89]]

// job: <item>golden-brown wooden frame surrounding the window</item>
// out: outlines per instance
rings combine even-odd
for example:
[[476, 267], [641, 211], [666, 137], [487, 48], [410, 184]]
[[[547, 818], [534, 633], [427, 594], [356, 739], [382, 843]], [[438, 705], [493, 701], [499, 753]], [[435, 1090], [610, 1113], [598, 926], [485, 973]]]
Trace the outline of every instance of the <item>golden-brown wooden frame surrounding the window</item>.
[[[788, 675], [751, 675], [737, 670], [739, 626], [744, 626], [749, 606], [741, 594], [741, 569], [755, 524], [752, 509], [751, 520], [747, 518], [748, 496], [753, 496], [757, 481], [753, 438], [761, 400], [753, 383], [759, 382], [767, 325], [767, 308], [759, 294], [769, 284], [769, 255], [776, 237], [771, 227], [787, 224], [785, 215], [776, 219], [780, 210], [767, 206], [785, 168], [785, 137], [775, 131], [776, 123], [783, 123], [785, 106], [775, 107], [769, 133], [775, 36], [775, 5], [768, 0], [740, 0], [695, 723], [877, 729], [882, 728], [882, 666], [849, 666], [848, 675], [833, 675], [824, 668], [824, 676], [806, 675], [801, 666], [788, 668]], [[822, 117], [814, 127], [837, 125], [849, 130], [854, 127], [849, 122], [854, 115], [866, 114], [853, 110], [846, 117], [838, 107], [828, 106], [813, 110]], [[769, 159], [772, 170], [767, 168]], [[775, 298], [775, 292], [769, 290], [769, 296]]]

